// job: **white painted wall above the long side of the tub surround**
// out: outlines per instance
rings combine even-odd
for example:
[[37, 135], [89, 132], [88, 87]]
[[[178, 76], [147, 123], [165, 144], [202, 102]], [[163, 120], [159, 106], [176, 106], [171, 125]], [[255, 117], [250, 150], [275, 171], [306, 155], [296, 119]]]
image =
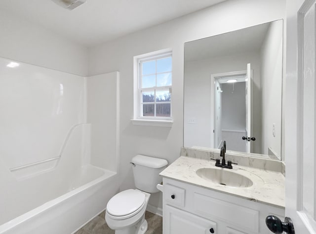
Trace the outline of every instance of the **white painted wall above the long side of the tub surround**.
[[87, 75], [87, 48], [67, 38], [1, 9], [0, 32], [0, 57]]

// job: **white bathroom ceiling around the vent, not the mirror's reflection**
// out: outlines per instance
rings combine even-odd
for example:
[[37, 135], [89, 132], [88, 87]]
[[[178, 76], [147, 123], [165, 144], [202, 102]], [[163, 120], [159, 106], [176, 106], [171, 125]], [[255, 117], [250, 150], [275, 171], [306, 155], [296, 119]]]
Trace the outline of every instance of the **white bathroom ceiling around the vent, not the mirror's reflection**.
[[91, 47], [224, 0], [87, 0], [67, 10], [52, 0], [1, 0], [0, 10]]

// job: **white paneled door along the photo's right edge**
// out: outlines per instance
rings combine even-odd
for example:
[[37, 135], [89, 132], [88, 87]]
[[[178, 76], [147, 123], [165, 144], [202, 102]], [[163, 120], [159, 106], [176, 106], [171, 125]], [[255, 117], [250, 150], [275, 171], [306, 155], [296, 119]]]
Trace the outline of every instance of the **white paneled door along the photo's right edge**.
[[285, 215], [296, 234], [316, 233], [315, 3], [286, 6]]

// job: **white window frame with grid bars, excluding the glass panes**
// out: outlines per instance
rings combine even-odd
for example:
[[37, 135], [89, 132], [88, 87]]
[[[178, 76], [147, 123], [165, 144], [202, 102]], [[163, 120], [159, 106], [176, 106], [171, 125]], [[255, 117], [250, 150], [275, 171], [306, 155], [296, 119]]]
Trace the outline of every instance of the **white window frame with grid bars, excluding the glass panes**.
[[[172, 60], [172, 50], [171, 49], [164, 49], [159, 50], [139, 56], [134, 57], [134, 120], [152, 120], [152, 121], [168, 121], [172, 122], [172, 68], [171, 68], [171, 85], [170, 86], [157, 86], [157, 75], [164, 74], [164, 73], [170, 73], [170, 72], [161, 72], [157, 73], [157, 60], [161, 58], [167, 58], [171, 57]], [[153, 74], [146, 74], [148, 75], [155, 75], [156, 76], [156, 86], [155, 87], [149, 87], [149, 88], [142, 88], [142, 63], [147, 61], [153, 61], [156, 60], [156, 73]], [[135, 64], [136, 63], [136, 64]], [[172, 61], [171, 61], [172, 63]], [[136, 65], [136, 66], [135, 66]], [[173, 66], [172, 66], [173, 67]], [[136, 73], [135, 73], [136, 68]], [[136, 75], [136, 77], [135, 77]], [[170, 101], [157, 101], [156, 100], [156, 92], [162, 91], [162, 90], [169, 90], [171, 99]], [[154, 116], [143, 116], [143, 104], [142, 102], [142, 92], [154, 92], [155, 99], [153, 102], [145, 102], [146, 104], [154, 104]], [[163, 103], [170, 103], [170, 116], [155, 116], [156, 115], [156, 107], [157, 104], [163, 104]]]

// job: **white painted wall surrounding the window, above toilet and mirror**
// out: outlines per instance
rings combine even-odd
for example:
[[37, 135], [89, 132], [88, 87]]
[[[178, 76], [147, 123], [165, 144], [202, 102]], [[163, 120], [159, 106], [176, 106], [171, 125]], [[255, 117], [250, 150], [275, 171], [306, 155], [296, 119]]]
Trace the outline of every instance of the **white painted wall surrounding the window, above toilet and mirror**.
[[[267, 13], [269, 12], [269, 13]], [[121, 189], [134, 187], [129, 162], [139, 153], [173, 162], [183, 145], [183, 44], [284, 18], [285, 0], [228, 0], [89, 49], [89, 75], [120, 72]], [[133, 126], [133, 56], [173, 50], [172, 128]], [[150, 204], [161, 207], [161, 194]]]

